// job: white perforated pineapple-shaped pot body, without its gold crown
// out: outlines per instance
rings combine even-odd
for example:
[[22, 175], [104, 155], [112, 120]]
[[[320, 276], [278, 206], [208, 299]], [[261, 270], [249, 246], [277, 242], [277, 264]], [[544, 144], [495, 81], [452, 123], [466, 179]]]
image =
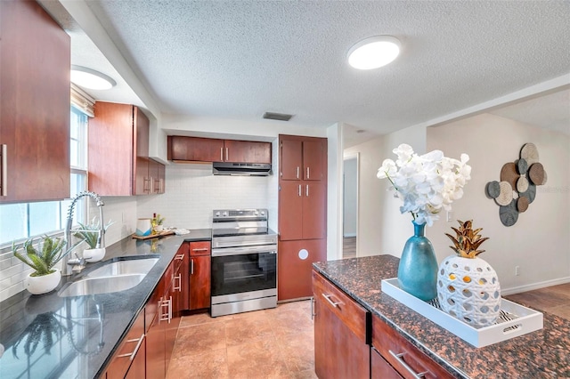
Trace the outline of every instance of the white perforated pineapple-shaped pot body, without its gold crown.
[[445, 258], [437, 271], [437, 298], [442, 310], [472, 327], [493, 325], [501, 311], [499, 278], [481, 258]]

